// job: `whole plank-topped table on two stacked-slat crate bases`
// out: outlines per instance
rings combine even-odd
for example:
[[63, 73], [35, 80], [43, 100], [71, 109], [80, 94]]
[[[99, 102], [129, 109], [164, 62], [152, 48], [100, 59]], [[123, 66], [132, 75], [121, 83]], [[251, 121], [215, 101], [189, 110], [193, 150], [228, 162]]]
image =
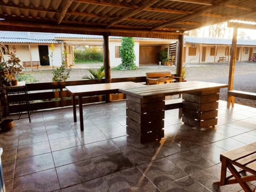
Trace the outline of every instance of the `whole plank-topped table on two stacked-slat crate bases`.
[[217, 125], [220, 88], [226, 84], [179, 82], [119, 89], [126, 94], [126, 133], [141, 143], [164, 137], [165, 96], [182, 94], [182, 121], [198, 129]]

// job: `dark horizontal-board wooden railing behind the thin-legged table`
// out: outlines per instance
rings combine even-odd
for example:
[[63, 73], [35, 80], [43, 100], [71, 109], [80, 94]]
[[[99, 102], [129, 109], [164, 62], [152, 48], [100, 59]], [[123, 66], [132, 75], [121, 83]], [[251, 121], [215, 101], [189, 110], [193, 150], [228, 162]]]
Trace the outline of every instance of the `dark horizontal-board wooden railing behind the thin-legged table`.
[[[113, 83], [127, 81], [146, 83], [146, 76], [111, 79]], [[71, 94], [65, 89], [66, 86], [97, 83], [105, 83], [105, 79], [27, 84], [30, 111], [71, 106], [72, 98]], [[19, 90], [16, 91], [17, 93], [9, 94], [7, 97], [10, 114], [27, 111], [25, 93], [18, 92]], [[96, 95], [95, 97], [83, 98], [83, 103], [101, 102], [105, 99], [105, 95]], [[123, 93], [111, 95], [111, 100], [120, 99], [125, 99]]]

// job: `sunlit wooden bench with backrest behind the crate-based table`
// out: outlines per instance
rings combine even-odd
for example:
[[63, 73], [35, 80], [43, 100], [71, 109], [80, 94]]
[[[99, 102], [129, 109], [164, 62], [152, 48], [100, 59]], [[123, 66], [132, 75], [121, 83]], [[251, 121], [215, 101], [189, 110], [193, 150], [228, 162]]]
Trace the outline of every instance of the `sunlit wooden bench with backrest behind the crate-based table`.
[[173, 82], [175, 82], [175, 78], [174, 78], [174, 75], [171, 74], [170, 71], [146, 73], [146, 84], [147, 85], [173, 83]]

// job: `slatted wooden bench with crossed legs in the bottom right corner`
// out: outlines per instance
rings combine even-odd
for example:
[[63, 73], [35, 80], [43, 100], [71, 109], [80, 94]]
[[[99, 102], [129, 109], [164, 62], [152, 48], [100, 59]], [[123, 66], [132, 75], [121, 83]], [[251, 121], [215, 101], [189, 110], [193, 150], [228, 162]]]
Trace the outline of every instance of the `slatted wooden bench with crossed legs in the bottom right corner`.
[[[239, 183], [245, 192], [255, 191], [255, 187], [252, 190], [246, 182], [256, 180], [256, 142], [221, 154], [220, 161], [220, 181], [214, 182], [215, 185]], [[227, 177], [227, 168], [231, 172], [229, 177]], [[250, 174], [247, 175], [246, 172]]]

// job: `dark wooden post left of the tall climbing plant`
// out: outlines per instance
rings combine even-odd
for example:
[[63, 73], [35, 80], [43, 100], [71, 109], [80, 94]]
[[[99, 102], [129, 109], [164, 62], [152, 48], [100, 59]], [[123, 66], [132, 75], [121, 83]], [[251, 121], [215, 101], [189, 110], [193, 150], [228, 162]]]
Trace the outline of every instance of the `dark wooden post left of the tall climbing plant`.
[[[109, 60], [109, 35], [103, 35], [103, 65], [105, 71], [105, 82], [111, 83], [111, 71]], [[106, 95], [106, 102], [111, 101], [111, 94]]]

